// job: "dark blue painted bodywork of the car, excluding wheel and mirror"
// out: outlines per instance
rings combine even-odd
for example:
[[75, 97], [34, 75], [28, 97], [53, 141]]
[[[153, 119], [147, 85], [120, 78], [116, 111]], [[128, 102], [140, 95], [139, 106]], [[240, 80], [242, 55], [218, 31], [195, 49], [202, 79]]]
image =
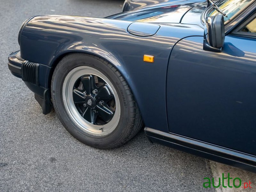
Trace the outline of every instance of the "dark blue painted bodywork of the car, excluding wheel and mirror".
[[[255, 166], [256, 41], [228, 34], [256, 9], [255, 3], [225, 26], [223, 52], [216, 53], [203, 50], [201, 17], [208, 9], [203, 0], [136, 1], [141, 7], [125, 2], [124, 9], [134, 11], [103, 19], [35, 16], [23, 26], [20, 55], [40, 64], [40, 86], [26, 84], [39, 95], [44, 113], [50, 110], [51, 76], [60, 59], [73, 52], [97, 55], [131, 87], [145, 126], [155, 129], [150, 129], [151, 140], [194, 154], [199, 149], [191, 143], [200, 141], [204, 157]], [[144, 62], [144, 54], [153, 55], [154, 63]], [[19, 52], [9, 56], [9, 68], [18, 77], [19, 58]], [[184, 146], [177, 138], [186, 140]], [[229, 154], [214, 154], [214, 145]], [[250, 162], [244, 153], [253, 157]]]

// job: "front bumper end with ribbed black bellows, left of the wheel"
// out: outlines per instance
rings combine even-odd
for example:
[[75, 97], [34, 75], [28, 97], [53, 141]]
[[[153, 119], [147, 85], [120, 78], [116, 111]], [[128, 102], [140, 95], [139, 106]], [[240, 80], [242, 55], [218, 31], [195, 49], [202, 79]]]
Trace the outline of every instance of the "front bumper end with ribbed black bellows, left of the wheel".
[[[47, 67], [39, 63], [24, 60], [20, 56], [20, 51], [16, 51], [8, 56], [8, 68], [12, 75], [21, 78], [28, 88], [35, 93], [35, 99], [42, 107], [43, 114], [50, 113], [52, 110], [50, 90], [44, 86], [40, 86], [39, 83], [40, 68], [44, 73]], [[45, 76], [43, 73], [41, 76]]]

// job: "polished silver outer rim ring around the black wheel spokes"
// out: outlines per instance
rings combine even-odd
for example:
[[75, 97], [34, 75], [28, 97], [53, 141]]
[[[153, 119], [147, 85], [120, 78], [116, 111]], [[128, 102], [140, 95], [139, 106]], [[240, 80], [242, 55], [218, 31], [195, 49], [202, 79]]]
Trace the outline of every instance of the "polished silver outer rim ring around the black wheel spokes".
[[[94, 75], [94, 76], [100, 77], [103, 81], [105, 81], [105, 83], [108, 85], [108, 87], [110, 88], [111, 92], [114, 95], [115, 102], [116, 102], [116, 110], [115, 110], [114, 116], [107, 124], [104, 124], [104, 125], [91, 124], [90, 122], [86, 121], [76, 109], [75, 103], [73, 101], [73, 88], [74, 88], [74, 84], [76, 83], [76, 80], [84, 75]], [[99, 70], [92, 67], [88, 67], [88, 66], [80, 66], [72, 69], [68, 73], [68, 75], [65, 77], [65, 80], [63, 82], [62, 96], [63, 96], [64, 107], [68, 115], [71, 117], [73, 122], [80, 128], [80, 130], [82, 130], [84, 133], [91, 136], [102, 137], [110, 134], [116, 129], [120, 120], [120, 110], [121, 110], [120, 101], [113, 84]]]

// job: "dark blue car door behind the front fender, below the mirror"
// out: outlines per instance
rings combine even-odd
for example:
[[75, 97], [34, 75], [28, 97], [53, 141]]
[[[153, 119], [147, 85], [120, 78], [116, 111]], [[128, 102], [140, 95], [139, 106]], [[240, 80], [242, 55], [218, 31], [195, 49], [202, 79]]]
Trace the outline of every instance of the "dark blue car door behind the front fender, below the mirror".
[[204, 51], [203, 36], [174, 46], [166, 82], [169, 132], [256, 155], [255, 18], [228, 34], [220, 53]]

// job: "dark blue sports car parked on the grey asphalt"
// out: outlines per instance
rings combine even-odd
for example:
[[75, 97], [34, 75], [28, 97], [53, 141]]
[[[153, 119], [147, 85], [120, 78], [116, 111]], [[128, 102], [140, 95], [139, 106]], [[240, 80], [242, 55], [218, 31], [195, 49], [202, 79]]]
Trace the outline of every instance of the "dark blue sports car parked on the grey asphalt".
[[36, 15], [12, 75], [65, 128], [115, 148], [151, 142], [256, 172], [256, 1], [126, 0], [106, 18]]

